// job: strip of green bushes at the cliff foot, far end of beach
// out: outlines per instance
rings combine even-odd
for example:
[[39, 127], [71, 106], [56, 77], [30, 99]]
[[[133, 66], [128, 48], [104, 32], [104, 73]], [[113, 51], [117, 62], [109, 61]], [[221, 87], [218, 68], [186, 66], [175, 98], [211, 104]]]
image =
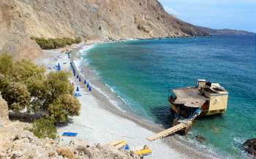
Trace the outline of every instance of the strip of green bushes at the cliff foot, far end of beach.
[[80, 37], [77, 37], [75, 39], [71, 39], [71, 38], [67, 38], [67, 37], [57, 38], [57, 39], [52, 39], [52, 38], [45, 39], [43, 37], [31, 36], [31, 39], [36, 41], [37, 44], [39, 44], [39, 46], [44, 50], [58, 49], [61, 47], [66, 47], [67, 45], [78, 44], [78, 43], [82, 42], [82, 39]]

